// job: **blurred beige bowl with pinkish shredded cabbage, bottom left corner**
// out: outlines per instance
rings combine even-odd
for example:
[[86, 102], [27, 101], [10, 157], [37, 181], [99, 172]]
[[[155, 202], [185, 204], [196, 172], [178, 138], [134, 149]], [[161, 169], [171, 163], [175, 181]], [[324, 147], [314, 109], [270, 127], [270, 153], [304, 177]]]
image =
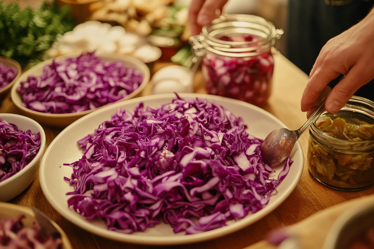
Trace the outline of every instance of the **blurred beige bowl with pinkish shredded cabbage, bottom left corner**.
[[72, 249], [65, 232], [52, 221], [61, 236], [46, 236], [32, 209], [0, 203], [0, 248], [2, 249]]

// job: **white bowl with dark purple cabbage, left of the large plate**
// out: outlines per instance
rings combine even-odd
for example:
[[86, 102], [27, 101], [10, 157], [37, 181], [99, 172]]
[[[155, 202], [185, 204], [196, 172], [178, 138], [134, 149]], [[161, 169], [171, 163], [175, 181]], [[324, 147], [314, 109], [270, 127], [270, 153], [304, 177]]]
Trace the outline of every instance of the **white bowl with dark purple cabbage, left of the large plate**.
[[21, 194], [34, 180], [46, 143], [31, 118], [0, 113], [0, 202]]

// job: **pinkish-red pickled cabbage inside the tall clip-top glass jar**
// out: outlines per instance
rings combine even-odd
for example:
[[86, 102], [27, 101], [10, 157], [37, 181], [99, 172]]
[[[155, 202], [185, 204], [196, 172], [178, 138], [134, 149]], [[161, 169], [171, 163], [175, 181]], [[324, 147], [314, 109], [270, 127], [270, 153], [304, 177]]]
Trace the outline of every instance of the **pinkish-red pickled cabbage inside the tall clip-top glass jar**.
[[[233, 35], [224, 41], [257, 41], [254, 35]], [[248, 47], [251, 45], [248, 45]], [[202, 71], [209, 94], [263, 106], [270, 97], [274, 59], [271, 50], [251, 57], [228, 57], [206, 53]]]

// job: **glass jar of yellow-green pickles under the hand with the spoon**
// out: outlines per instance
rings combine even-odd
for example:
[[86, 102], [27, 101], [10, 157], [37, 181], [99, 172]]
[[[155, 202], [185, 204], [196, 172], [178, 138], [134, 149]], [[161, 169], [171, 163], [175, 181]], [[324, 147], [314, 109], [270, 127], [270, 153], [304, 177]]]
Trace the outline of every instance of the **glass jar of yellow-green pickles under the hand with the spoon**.
[[374, 185], [374, 102], [353, 96], [335, 114], [310, 126], [307, 161], [312, 176], [332, 189]]

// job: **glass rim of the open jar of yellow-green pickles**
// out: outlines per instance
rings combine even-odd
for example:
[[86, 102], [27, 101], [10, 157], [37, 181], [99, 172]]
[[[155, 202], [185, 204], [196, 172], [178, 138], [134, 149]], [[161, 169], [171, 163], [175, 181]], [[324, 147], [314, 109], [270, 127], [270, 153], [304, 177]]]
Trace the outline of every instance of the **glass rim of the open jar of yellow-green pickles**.
[[[357, 108], [362, 108], [362, 106], [356, 106], [354, 108], [354, 104], [360, 104], [367, 106], [367, 109], [355, 110]], [[368, 117], [372, 118], [374, 121], [374, 102], [363, 97], [353, 96], [346, 105], [343, 106], [340, 111], [361, 111], [362, 115], [367, 115]], [[338, 111], [338, 112], [340, 112]], [[321, 114], [321, 117], [328, 114], [327, 111]], [[373, 123], [374, 124], [374, 123]], [[354, 152], [358, 151], [366, 151], [366, 150], [373, 150], [374, 149], [374, 140], [365, 140], [365, 141], [349, 141], [349, 140], [342, 140], [336, 137], [331, 137], [324, 133], [323, 131], [319, 130], [316, 126], [316, 123], [313, 123], [310, 127], [310, 135], [315, 137], [320, 143], [324, 144], [325, 146], [332, 147], [334, 149], [348, 149]], [[323, 141], [322, 141], [323, 140]], [[359, 149], [358, 149], [359, 148]]]

